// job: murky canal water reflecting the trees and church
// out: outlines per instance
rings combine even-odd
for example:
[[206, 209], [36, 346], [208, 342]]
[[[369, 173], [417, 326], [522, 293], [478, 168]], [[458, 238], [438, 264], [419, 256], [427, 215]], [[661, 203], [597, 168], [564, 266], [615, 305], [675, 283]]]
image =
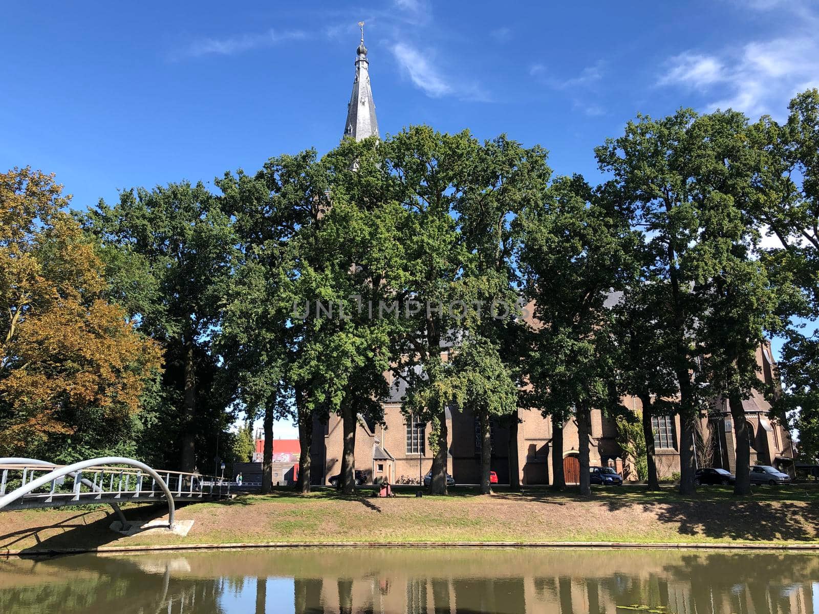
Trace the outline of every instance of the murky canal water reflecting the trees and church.
[[0, 613], [819, 614], [819, 555], [249, 549], [0, 560]]

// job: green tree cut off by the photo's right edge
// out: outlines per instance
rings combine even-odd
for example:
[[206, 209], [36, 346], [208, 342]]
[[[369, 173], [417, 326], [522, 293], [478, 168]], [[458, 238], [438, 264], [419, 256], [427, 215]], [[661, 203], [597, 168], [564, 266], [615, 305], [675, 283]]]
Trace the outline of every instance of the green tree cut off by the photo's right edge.
[[779, 368], [784, 395], [776, 409], [799, 432], [799, 454], [819, 458], [819, 90], [790, 101], [785, 124], [763, 118], [771, 198], [751, 214], [773, 241], [762, 255], [779, 288], [779, 313], [790, 318]]

